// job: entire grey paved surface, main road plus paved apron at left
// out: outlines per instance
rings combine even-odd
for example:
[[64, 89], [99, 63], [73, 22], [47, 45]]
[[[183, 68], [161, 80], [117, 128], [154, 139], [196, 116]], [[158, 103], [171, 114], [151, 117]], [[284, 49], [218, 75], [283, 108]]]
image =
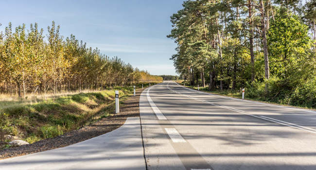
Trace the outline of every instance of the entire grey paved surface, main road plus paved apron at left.
[[0, 170], [316, 170], [316, 112], [164, 82], [142, 92], [140, 118]]

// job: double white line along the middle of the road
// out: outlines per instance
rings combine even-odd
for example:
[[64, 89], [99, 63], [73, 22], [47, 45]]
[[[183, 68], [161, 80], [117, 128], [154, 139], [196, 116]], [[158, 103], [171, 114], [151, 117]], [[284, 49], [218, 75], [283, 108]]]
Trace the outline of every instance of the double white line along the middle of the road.
[[[175, 90], [172, 90], [172, 89], [169, 87], [169, 84], [167, 85], [167, 87], [168, 87], [169, 90], [176, 92]], [[195, 91], [195, 90], [194, 90], [194, 91]], [[275, 122], [275, 123], [278, 123], [278, 124], [282, 124], [282, 125], [285, 125], [285, 126], [294, 127], [294, 128], [297, 128], [297, 129], [300, 129], [300, 130], [303, 130], [303, 131], [307, 131], [307, 132], [311, 132], [311, 133], [316, 134], [316, 132], [313, 132], [313, 131], [310, 131], [310, 130], [306, 130], [306, 129], [308, 129], [307, 127], [300, 126], [300, 127], [306, 128], [306, 129], [303, 129], [303, 128], [299, 128], [299, 127], [297, 127], [297, 126], [292, 126], [292, 125], [290, 125], [290, 124], [294, 124], [294, 123], [290, 123], [290, 124], [282, 123], [281, 121], [272, 120], [272, 118], [267, 118], [267, 117], [264, 117], [264, 116], [255, 116], [255, 115], [247, 114], [247, 113], [245, 113], [245, 112], [242, 111], [242, 110], [238, 110], [238, 109], [234, 109], [234, 108], [231, 108], [231, 107], [228, 107], [228, 106], [221, 106], [221, 105], [217, 105], [217, 104], [214, 104], [214, 103], [211, 103], [211, 102], [199, 100], [199, 99], [196, 99], [196, 98], [193, 98], [193, 97], [184, 95], [184, 94], [179, 93], [179, 92], [176, 92], [176, 93], [177, 93], [177, 94], [180, 94], [180, 95], [183, 95], [183, 96], [186, 96], [186, 97], [188, 97], [188, 98], [194, 99], [194, 100], [196, 100], [196, 101], [209, 103], [209, 104], [212, 104], [212, 105], [214, 105], [214, 106], [219, 106], [219, 107], [222, 107], [222, 108], [225, 108], [225, 109], [228, 109], [228, 110], [232, 110], [232, 111], [235, 111], [235, 112], [239, 112], [239, 113], [242, 113], [242, 114], [245, 114], [245, 115], [248, 115], [248, 116], [252, 116], [252, 117], [255, 117], [255, 118], [259, 118], [259, 119], [264, 119], [264, 120], [272, 121], [272, 122]], [[299, 125], [298, 125], [298, 126], [299, 126]]]

